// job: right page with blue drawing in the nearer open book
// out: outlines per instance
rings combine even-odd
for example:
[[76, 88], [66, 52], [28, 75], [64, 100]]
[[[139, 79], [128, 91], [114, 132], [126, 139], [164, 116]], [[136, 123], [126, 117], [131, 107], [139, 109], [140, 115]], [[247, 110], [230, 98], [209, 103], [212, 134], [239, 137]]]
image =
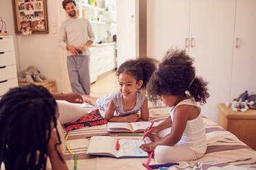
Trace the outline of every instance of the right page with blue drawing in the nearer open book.
[[136, 139], [120, 139], [120, 150], [118, 158], [147, 158], [149, 155], [146, 151], [140, 149], [142, 140]]

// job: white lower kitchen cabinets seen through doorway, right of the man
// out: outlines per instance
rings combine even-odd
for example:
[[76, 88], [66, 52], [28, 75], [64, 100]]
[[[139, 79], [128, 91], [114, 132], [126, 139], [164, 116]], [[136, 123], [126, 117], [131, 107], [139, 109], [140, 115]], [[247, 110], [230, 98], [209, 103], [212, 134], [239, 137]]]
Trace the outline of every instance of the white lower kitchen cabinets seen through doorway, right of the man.
[[89, 75], [92, 83], [97, 80], [98, 75], [116, 68], [116, 45], [97, 45], [90, 47], [90, 51]]

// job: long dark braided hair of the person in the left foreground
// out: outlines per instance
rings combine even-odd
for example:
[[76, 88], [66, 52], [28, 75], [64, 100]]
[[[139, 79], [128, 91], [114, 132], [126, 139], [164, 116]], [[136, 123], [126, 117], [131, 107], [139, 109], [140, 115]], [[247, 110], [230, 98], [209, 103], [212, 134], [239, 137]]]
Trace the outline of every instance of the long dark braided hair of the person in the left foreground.
[[[8, 169], [46, 169], [56, 101], [43, 86], [12, 88], [0, 100], [0, 165]], [[61, 145], [58, 130], [58, 141]], [[56, 150], [57, 151], [57, 150]], [[61, 154], [59, 158], [64, 162]]]

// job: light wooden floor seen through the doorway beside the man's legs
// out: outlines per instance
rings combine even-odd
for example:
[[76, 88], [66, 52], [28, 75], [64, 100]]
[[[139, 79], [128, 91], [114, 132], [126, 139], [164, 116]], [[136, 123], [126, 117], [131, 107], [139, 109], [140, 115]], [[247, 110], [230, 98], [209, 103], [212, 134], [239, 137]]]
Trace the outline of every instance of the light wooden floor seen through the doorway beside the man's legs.
[[118, 90], [118, 78], [116, 71], [108, 73], [104, 77], [98, 78], [96, 82], [91, 84], [90, 96], [101, 97]]

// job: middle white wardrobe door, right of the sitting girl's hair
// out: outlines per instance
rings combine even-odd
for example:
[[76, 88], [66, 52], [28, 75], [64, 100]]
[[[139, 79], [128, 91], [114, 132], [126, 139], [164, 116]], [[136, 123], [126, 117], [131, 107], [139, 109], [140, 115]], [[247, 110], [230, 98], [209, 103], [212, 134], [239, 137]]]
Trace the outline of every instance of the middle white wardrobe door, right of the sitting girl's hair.
[[191, 48], [197, 76], [209, 82], [211, 97], [202, 114], [217, 121], [217, 104], [230, 101], [235, 0], [191, 1]]

